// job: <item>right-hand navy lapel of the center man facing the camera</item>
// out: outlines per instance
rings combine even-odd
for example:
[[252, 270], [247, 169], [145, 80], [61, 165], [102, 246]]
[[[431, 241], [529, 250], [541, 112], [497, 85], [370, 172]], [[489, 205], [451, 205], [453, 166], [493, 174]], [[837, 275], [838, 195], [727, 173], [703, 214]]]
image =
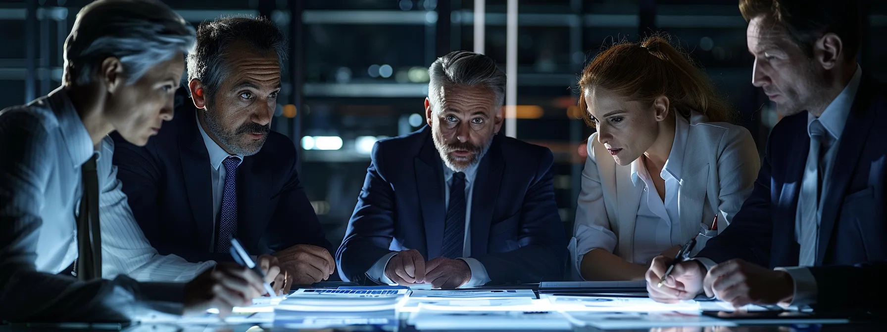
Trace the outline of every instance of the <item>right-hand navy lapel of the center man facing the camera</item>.
[[475, 183], [471, 196], [471, 256], [481, 256], [487, 253], [487, 240], [490, 237], [490, 227], [493, 218], [493, 210], [496, 207], [499, 185], [502, 182], [502, 170], [505, 162], [499, 151], [498, 135], [494, 136], [490, 150], [477, 166]]

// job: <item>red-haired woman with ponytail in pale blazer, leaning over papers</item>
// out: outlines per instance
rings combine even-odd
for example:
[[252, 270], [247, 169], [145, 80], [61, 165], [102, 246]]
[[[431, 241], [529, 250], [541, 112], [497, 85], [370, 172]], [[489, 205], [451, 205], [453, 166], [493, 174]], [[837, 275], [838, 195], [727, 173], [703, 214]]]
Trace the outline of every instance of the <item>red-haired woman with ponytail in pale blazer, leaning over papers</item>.
[[760, 159], [687, 55], [659, 35], [618, 43], [585, 67], [579, 89], [597, 128], [573, 231], [571, 263], [585, 280], [643, 280], [654, 257], [673, 257], [702, 230], [698, 251], [726, 228]]

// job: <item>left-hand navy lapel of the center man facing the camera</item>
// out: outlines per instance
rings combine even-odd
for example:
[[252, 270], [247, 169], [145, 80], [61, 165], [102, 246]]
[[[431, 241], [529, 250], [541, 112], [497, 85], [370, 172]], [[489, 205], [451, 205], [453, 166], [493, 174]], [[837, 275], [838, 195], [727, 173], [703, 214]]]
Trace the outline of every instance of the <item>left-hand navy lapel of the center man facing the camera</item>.
[[[425, 226], [425, 259], [440, 256], [443, 243], [443, 223], [446, 217], [443, 202], [443, 164], [431, 140], [431, 128], [425, 127], [425, 144], [413, 161], [416, 171], [416, 189]], [[421, 251], [421, 248], [412, 248]]]

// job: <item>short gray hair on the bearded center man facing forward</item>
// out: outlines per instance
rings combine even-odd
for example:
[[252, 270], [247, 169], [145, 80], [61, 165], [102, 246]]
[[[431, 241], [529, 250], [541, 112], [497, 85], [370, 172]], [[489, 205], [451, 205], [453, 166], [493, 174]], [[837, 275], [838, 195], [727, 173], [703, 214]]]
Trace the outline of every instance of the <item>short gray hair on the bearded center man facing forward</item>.
[[440, 105], [441, 89], [453, 86], [480, 86], [496, 95], [496, 104], [505, 104], [506, 76], [496, 61], [480, 53], [456, 50], [437, 58], [428, 68], [428, 100]]

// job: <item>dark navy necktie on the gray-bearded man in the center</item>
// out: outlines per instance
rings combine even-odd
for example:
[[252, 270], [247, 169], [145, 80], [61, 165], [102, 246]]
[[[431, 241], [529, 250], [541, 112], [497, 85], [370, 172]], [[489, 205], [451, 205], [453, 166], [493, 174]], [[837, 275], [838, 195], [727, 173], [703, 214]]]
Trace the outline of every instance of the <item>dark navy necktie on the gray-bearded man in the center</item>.
[[443, 226], [441, 257], [458, 259], [465, 247], [465, 174], [452, 174], [450, 203]]

